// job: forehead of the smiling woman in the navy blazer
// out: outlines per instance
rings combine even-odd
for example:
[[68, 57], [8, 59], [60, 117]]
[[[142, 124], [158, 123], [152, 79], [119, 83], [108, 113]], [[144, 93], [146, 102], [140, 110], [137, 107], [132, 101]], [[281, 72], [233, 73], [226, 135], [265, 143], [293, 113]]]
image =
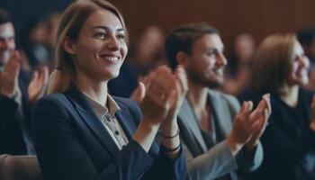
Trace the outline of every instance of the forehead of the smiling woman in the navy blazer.
[[100, 9], [91, 14], [87, 19], [85, 24], [83, 25], [83, 29], [90, 29], [94, 26], [105, 26], [109, 29], [121, 29], [122, 25], [120, 20], [115, 14], [112, 12]]

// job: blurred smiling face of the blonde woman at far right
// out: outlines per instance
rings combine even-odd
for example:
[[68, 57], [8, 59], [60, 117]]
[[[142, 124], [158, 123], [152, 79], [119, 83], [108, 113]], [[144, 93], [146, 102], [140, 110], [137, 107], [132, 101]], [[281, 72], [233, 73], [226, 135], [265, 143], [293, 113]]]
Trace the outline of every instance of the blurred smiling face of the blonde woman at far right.
[[289, 85], [306, 85], [309, 83], [308, 70], [310, 60], [304, 55], [301, 44], [294, 42], [292, 72], [288, 79]]

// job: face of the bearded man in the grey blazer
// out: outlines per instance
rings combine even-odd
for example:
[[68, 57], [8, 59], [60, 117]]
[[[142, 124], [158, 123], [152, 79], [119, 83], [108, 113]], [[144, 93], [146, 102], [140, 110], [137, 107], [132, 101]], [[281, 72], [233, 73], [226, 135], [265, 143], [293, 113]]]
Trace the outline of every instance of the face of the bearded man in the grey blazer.
[[227, 59], [218, 34], [206, 34], [193, 43], [192, 55], [186, 66], [188, 78], [196, 85], [215, 87], [224, 82], [223, 71]]

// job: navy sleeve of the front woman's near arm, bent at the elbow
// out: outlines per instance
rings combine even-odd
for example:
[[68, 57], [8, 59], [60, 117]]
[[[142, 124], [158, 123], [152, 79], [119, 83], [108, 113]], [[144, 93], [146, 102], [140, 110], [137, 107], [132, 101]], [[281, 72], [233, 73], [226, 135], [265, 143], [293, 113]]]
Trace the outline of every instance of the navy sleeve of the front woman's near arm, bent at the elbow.
[[153, 163], [139, 144], [130, 143], [97, 169], [76, 134], [66, 102], [46, 96], [35, 104], [31, 128], [42, 173], [47, 179], [139, 179]]

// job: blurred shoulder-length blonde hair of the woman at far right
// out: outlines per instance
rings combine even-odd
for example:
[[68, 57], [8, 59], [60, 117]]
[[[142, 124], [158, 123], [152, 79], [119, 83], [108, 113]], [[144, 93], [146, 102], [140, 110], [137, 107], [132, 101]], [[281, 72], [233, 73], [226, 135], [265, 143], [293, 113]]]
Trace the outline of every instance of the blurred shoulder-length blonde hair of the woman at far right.
[[259, 93], [284, 94], [292, 71], [293, 46], [296, 36], [268, 36], [257, 49], [253, 67], [253, 89]]

